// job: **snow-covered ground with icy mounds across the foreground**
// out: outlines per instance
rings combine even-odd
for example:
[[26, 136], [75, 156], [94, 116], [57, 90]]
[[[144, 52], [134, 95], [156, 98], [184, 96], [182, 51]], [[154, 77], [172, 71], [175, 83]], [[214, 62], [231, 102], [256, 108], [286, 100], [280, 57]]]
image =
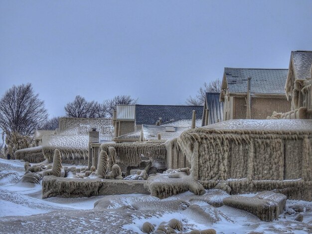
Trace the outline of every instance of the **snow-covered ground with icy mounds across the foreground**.
[[[157, 228], [173, 218], [183, 224], [183, 233], [211, 228], [224, 234], [312, 233], [312, 202], [288, 200], [280, 219], [268, 223], [231, 207], [214, 208], [190, 192], [163, 200], [140, 194], [42, 200], [41, 185], [18, 182], [23, 174], [23, 161], [0, 159], [0, 233], [142, 233], [145, 222]], [[294, 205], [303, 208], [303, 222], [295, 221]]]

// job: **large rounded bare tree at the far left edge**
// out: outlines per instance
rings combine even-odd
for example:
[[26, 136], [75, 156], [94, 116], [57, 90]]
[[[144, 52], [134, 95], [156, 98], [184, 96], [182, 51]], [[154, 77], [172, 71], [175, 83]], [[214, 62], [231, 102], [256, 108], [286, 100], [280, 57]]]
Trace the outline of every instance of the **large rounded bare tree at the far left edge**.
[[30, 83], [13, 86], [0, 100], [0, 127], [9, 137], [12, 132], [30, 135], [48, 117], [44, 102], [34, 94]]

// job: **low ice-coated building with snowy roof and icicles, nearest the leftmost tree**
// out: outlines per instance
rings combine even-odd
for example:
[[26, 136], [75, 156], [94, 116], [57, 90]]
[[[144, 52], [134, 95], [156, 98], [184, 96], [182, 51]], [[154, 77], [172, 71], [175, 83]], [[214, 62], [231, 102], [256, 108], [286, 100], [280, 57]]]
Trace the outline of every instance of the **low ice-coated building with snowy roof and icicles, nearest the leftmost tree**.
[[[40, 146], [21, 149], [15, 152], [16, 159], [29, 162], [41, 162], [44, 159], [52, 161], [54, 150], [60, 150], [64, 163], [83, 163], [88, 160], [89, 131], [96, 128], [99, 131], [99, 141], [111, 141], [114, 127], [112, 119], [107, 118], [59, 118], [59, 128], [56, 131], [37, 131], [36, 141]], [[32, 155], [37, 155], [35, 158]], [[34, 159], [34, 161], [32, 160]]]

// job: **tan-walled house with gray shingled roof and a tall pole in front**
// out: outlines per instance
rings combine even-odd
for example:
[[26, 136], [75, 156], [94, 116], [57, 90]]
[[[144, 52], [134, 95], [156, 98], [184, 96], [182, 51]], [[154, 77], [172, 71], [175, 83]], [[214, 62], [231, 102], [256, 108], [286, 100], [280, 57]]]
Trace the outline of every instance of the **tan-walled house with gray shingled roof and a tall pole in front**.
[[290, 110], [284, 90], [287, 74], [288, 69], [224, 68], [223, 120], [266, 119], [274, 111]]

